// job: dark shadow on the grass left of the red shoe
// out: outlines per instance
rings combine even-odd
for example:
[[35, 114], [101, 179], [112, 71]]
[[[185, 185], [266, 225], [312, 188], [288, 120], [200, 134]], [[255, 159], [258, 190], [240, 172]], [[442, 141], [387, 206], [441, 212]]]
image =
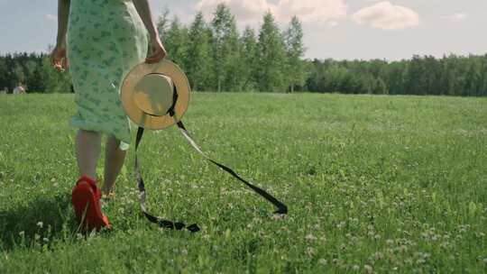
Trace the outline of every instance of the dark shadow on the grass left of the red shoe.
[[0, 250], [48, 243], [71, 236], [77, 227], [69, 195], [41, 196], [27, 205], [0, 211]]

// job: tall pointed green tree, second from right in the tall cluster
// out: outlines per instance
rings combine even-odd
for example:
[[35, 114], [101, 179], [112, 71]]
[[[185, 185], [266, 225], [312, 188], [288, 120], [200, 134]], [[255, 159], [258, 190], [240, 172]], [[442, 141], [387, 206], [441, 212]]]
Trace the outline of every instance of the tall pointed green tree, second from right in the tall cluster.
[[259, 32], [258, 87], [261, 91], [281, 92], [286, 85], [284, 39], [271, 12], [264, 14]]

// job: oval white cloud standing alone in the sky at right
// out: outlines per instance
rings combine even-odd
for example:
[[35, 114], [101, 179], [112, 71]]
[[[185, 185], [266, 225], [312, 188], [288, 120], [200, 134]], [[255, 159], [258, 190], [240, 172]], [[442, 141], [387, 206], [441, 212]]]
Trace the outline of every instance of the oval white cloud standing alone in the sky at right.
[[401, 30], [418, 26], [419, 14], [409, 7], [392, 5], [383, 1], [365, 7], [353, 16], [356, 23], [366, 23], [382, 30]]

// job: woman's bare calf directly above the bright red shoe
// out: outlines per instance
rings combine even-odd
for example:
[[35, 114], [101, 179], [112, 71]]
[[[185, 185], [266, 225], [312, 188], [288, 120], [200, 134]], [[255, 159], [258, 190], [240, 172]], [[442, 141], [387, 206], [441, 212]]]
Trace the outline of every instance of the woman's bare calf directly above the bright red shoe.
[[79, 130], [76, 138], [76, 157], [80, 176], [96, 179], [96, 164], [100, 158], [101, 134]]

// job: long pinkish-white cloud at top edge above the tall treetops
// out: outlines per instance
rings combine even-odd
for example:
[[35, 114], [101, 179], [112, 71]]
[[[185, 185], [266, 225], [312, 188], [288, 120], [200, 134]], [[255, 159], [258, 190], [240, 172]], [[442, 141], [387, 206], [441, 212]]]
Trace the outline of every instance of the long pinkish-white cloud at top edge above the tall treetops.
[[347, 10], [345, 0], [279, 0], [277, 4], [269, 0], [200, 0], [196, 8], [209, 16], [219, 3], [228, 5], [236, 19], [245, 23], [260, 21], [267, 11], [280, 23], [288, 23], [294, 15], [303, 22], [326, 23], [344, 19]]

